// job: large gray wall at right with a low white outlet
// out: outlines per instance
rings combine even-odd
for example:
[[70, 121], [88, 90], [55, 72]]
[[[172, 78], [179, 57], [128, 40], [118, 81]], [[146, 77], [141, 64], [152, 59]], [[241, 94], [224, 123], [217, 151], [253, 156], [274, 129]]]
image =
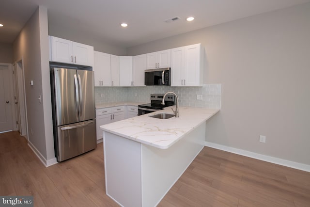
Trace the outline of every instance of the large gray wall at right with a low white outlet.
[[204, 82], [222, 83], [206, 141], [309, 165], [309, 19], [306, 3], [127, 48], [127, 55], [202, 43]]

